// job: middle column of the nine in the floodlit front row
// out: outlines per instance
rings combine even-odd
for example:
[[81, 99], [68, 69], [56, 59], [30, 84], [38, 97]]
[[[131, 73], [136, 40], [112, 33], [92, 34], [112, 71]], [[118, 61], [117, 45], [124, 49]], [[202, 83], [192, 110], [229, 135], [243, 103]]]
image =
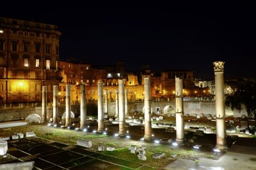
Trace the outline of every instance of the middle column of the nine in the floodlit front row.
[[98, 82], [98, 132], [104, 131], [103, 82]]

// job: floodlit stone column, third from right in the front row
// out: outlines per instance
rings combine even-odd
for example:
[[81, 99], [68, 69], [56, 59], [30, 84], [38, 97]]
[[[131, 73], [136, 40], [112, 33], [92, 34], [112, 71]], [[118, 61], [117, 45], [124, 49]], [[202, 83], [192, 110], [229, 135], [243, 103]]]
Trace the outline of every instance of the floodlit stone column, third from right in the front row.
[[144, 106], [145, 106], [145, 134], [144, 139], [150, 140], [152, 138], [151, 127], [151, 89], [150, 78], [144, 78]]

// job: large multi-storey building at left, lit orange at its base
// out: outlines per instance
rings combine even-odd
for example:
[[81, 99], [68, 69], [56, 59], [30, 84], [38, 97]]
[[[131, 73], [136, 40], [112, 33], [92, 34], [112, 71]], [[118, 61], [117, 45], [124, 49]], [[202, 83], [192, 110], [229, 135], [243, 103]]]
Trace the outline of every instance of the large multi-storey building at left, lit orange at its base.
[[42, 101], [42, 85], [52, 101], [61, 81], [56, 25], [0, 17], [0, 103]]

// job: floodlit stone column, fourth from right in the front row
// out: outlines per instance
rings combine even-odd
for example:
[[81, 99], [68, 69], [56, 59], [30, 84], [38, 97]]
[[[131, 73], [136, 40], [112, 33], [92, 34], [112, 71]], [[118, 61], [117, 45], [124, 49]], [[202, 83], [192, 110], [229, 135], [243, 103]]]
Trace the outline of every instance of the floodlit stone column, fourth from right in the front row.
[[118, 103], [118, 112], [119, 112], [119, 131], [118, 134], [124, 135], [125, 131], [125, 110], [124, 110], [124, 80], [118, 80], [118, 92], [119, 92], [119, 103]]

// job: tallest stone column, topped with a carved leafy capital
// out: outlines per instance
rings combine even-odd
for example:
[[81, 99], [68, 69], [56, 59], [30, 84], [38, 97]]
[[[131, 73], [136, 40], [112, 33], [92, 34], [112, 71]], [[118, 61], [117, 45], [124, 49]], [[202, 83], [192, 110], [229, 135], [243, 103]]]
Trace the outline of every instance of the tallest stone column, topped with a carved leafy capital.
[[224, 62], [213, 62], [215, 74], [215, 107], [216, 107], [216, 148], [220, 150], [227, 149], [226, 143], [226, 125], [225, 125], [225, 96], [223, 70]]

